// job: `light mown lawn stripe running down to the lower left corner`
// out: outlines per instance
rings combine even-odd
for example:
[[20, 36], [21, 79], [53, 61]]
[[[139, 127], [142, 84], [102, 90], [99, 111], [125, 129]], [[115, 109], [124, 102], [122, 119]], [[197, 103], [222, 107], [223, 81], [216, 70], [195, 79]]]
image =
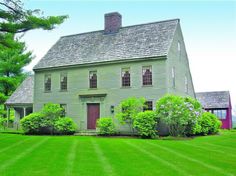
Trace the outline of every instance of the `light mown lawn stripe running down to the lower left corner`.
[[48, 140], [48, 137], [36, 142], [34, 145], [32, 145], [29, 148], [26, 148], [25, 150], [21, 151], [18, 155], [12, 157], [10, 160], [5, 161], [0, 165], [0, 173], [4, 171], [7, 167], [13, 165], [18, 160], [22, 159], [23, 157], [26, 157], [30, 154], [30, 152], [34, 151], [36, 148], [40, 147], [42, 144], [44, 144]]

